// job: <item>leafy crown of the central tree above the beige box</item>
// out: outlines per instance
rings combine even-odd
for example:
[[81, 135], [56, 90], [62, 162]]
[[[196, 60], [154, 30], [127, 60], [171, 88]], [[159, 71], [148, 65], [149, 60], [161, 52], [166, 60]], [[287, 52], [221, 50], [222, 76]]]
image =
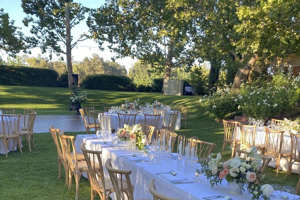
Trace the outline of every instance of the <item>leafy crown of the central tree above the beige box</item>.
[[112, 0], [91, 14], [88, 26], [92, 37], [118, 53], [117, 58], [131, 56], [163, 66], [164, 80], [171, 69], [191, 66], [190, 36], [196, 32], [188, 1]]

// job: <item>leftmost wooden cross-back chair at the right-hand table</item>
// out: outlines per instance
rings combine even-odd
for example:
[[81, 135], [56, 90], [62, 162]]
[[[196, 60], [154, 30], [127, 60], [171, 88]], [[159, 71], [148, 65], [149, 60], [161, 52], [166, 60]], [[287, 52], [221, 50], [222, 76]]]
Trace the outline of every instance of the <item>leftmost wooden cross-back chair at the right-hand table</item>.
[[238, 122], [231, 122], [231, 121], [223, 120], [224, 139], [223, 139], [223, 146], [222, 146], [221, 155], [224, 152], [224, 148], [225, 148], [226, 144], [230, 144], [231, 148], [232, 148], [231, 158], [234, 157], [235, 148], [237, 147], [238, 144], [241, 143], [241, 140], [236, 139], [236, 137], [237, 137], [237, 125], [238, 125]]

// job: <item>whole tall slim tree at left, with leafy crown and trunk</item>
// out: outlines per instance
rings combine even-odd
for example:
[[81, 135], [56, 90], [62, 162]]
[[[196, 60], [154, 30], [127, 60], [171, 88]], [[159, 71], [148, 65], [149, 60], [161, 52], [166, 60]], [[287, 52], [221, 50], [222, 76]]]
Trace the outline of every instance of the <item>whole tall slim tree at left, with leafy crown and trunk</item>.
[[[88, 8], [73, 0], [22, 0], [23, 11], [28, 16], [23, 20], [25, 26], [32, 22], [31, 33], [36, 36], [34, 42], [42, 49], [42, 53], [47, 50], [57, 55], [66, 54], [69, 88], [72, 87], [72, 54], [71, 50], [77, 42], [87, 38], [83, 33], [77, 40], [73, 41], [71, 28], [84, 20], [84, 14]], [[66, 50], [61, 48], [60, 42], [66, 46]], [[72, 43], [73, 42], [73, 43]]]

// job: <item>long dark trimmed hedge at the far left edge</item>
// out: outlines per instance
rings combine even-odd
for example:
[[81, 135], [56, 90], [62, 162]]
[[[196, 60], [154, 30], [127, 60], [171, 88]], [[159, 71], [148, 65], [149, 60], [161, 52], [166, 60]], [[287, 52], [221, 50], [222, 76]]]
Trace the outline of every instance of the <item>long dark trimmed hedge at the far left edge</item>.
[[0, 65], [0, 85], [58, 87], [53, 69]]

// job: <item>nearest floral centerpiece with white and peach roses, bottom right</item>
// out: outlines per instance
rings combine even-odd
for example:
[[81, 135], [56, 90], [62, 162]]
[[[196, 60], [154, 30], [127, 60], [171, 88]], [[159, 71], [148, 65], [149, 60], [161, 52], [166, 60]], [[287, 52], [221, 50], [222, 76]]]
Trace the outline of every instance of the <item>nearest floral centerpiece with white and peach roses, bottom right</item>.
[[[274, 191], [271, 185], [261, 185], [264, 175], [261, 176], [260, 168], [262, 167], [262, 158], [257, 155], [257, 148], [252, 148], [249, 155], [245, 158], [238, 156], [221, 162], [220, 153], [215, 158], [212, 153], [209, 156], [209, 162], [202, 164], [201, 172], [210, 180], [212, 187], [221, 184], [224, 179], [230, 184], [235, 185], [235, 189], [241, 194], [245, 188], [253, 195], [252, 199], [269, 199], [270, 194]], [[232, 193], [232, 192], [230, 192]], [[234, 194], [234, 193], [232, 193]]]

